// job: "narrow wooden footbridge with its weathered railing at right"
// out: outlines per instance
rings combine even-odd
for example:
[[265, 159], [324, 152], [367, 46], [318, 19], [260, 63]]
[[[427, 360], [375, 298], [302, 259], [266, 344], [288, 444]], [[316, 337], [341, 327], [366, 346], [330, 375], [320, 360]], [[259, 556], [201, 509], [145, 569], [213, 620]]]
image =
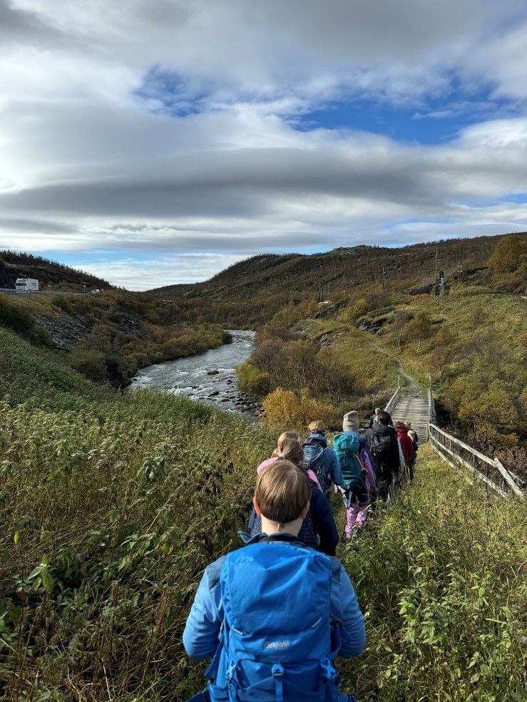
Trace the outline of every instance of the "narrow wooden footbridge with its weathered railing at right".
[[410, 424], [419, 440], [429, 440], [437, 455], [472, 485], [479, 480], [487, 490], [493, 490], [501, 497], [516, 496], [523, 499], [527, 488], [526, 480], [507, 470], [498, 458], [489, 458], [439, 428], [436, 425], [436, 408], [431, 388], [426, 396], [414, 378], [406, 373], [404, 375], [410, 381], [409, 387], [399, 386], [384, 408], [392, 415], [392, 420]]

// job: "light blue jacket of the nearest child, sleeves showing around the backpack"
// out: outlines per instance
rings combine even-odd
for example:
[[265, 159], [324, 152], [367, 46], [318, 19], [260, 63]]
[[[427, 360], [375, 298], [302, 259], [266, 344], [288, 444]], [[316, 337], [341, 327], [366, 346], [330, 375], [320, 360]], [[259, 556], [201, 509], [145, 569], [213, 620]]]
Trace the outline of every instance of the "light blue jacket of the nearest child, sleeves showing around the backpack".
[[[280, 535], [281, 540], [283, 537], [284, 535]], [[255, 537], [250, 540], [250, 543], [258, 542], [261, 538], [262, 535]], [[291, 539], [292, 542], [295, 542], [294, 537]], [[226, 557], [225, 555], [218, 558], [205, 569], [188, 615], [185, 631], [183, 631], [185, 651], [195, 659], [211, 658], [218, 649], [220, 628], [224, 616], [220, 572]], [[328, 602], [329, 611], [332, 617], [342, 622], [344, 632], [347, 634], [347, 636], [342, 636], [339, 655], [343, 658], [353, 658], [358, 656], [366, 645], [364, 617], [342, 563], [337, 558], [332, 558], [332, 562], [334, 576], [332, 578], [331, 601]]]

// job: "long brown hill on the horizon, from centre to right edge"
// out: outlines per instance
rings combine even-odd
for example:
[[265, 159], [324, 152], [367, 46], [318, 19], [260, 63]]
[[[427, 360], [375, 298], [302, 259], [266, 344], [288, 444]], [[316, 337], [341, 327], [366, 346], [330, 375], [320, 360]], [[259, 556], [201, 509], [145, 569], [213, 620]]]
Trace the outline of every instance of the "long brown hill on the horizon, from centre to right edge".
[[[254, 328], [288, 304], [429, 293], [438, 271], [458, 282], [524, 294], [525, 268], [496, 277], [488, 260], [505, 236], [445, 239], [406, 247], [357, 246], [319, 254], [260, 254], [233, 264], [207, 282], [150, 291], [176, 299], [188, 319]], [[527, 234], [515, 234], [524, 246]], [[379, 304], [377, 306], [382, 306]]]

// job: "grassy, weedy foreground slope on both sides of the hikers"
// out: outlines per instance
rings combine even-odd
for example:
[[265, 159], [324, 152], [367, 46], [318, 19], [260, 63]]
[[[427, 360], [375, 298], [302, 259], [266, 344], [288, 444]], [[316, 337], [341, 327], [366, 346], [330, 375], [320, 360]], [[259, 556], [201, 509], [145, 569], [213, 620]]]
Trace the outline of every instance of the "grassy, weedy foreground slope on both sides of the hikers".
[[[203, 672], [181, 648], [185, 616], [205, 564], [237, 543], [272, 435], [98, 388], [4, 329], [0, 373], [0, 686], [185, 699]], [[385, 701], [513, 698], [524, 544], [524, 510], [425, 449], [414, 485], [342, 546], [369, 633], [339, 665], [344, 686]]]

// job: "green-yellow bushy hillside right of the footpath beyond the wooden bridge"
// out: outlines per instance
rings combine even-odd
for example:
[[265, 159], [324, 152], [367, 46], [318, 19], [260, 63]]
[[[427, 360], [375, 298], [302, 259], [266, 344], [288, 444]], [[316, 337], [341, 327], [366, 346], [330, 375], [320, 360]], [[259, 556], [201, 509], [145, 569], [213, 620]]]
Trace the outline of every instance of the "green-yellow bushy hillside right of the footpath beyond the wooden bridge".
[[521, 297], [459, 288], [398, 306], [376, 341], [422, 381], [430, 373], [434, 396], [471, 443], [514, 445], [527, 431], [526, 323]]

